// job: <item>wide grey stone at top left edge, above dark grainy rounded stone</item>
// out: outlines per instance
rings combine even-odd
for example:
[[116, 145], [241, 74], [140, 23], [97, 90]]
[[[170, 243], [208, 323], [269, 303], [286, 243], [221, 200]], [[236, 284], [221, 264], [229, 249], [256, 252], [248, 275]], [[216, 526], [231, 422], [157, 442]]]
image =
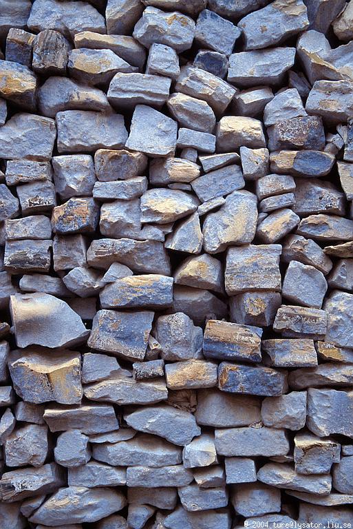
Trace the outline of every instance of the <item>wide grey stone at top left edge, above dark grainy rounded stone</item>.
[[81, 31], [106, 32], [105, 19], [93, 6], [67, 0], [35, 0], [28, 28], [34, 32], [56, 30], [68, 39]]

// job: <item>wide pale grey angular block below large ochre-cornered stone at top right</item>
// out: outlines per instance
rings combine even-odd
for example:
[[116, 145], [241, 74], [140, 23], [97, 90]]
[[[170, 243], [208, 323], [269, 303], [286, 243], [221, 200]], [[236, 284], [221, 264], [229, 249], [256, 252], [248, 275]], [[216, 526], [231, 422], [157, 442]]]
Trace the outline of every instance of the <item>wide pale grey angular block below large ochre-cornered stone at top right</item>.
[[241, 87], [277, 85], [295, 62], [295, 48], [272, 48], [233, 53], [228, 81]]

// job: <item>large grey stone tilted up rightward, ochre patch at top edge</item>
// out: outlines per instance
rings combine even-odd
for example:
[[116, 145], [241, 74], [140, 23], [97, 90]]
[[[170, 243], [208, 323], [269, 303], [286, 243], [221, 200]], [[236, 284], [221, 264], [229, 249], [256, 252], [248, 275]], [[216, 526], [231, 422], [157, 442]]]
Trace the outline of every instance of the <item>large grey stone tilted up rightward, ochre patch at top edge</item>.
[[240, 20], [246, 50], [257, 50], [278, 44], [308, 28], [306, 6], [301, 0], [283, 3], [275, 0]]

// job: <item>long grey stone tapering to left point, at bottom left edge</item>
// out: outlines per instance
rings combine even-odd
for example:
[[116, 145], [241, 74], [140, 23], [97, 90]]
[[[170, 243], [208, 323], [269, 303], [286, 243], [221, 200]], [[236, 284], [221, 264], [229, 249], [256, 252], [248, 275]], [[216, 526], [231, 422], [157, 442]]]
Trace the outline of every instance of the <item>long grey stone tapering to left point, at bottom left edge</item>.
[[125, 507], [125, 496], [111, 488], [61, 488], [30, 518], [33, 523], [85, 523], [97, 521]]

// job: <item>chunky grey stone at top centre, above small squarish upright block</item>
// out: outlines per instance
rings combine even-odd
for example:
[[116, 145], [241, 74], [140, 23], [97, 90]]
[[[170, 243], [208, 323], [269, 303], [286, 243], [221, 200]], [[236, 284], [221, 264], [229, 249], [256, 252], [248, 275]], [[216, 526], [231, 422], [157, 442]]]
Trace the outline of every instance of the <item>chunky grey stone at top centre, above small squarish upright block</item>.
[[135, 25], [133, 37], [146, 48], [153, 43], [166, 44], [180, 53], [191, 48], [194, 33], [195, 22], [190, 17], [147, 7]]

